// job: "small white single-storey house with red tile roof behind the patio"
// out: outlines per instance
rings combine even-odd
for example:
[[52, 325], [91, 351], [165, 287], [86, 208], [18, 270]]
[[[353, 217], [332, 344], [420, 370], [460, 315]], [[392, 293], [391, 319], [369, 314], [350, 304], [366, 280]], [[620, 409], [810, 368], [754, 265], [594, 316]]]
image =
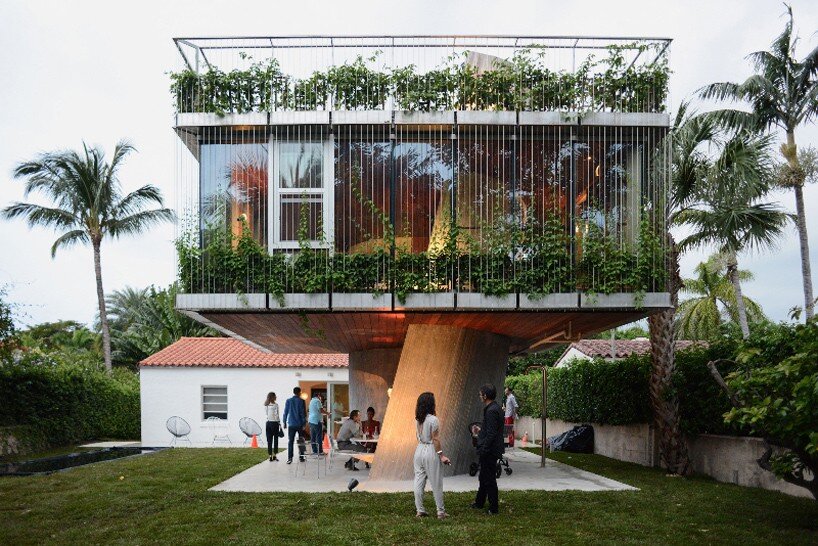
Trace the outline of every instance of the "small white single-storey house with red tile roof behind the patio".
[[[170, 444], [165, 423], [172, 416], [190, 424], [194, 446], [214, 444], [206, 421], [211, 416], [227, 425], [220, 435], [229, 442], [216, 445], [241, 445], [239, 419], [251, 417], [263, 429], [267, 393], [276, 393], [283, 417], [284, 402], [296, 386], [305, 399], [316, 391], [324, 394], [334, 421], [351, 409], [345, 354], [271, 354], [232, 338], [182, 338], [140, 362], [139, 376], [144, 446]], [[262, 434], [259, 445], [265, 441]]]

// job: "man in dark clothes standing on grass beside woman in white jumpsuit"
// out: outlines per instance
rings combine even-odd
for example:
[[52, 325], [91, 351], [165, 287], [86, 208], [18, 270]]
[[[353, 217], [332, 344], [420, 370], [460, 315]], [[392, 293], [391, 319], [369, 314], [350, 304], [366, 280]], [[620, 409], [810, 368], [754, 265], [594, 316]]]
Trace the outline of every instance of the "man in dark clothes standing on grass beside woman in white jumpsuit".
[[503, 454], [503, 410], [495, 402], [497, 389], [494, 385], [480, 387], [480, 400], [483, 402], [483, 424], [477, 435], [477, 457], [480, 460], [480, 488], [472, 508], [483, 509], [486, 497], [489, 501], [489, 514], [498, 512], [497, 492], [497, 459]]

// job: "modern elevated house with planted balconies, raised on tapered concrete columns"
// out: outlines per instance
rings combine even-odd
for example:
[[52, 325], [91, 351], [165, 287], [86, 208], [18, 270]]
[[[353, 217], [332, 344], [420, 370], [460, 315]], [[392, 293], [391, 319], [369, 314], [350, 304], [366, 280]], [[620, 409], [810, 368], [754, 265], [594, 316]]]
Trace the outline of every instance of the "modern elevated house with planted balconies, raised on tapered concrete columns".
[[374, 477], [411, 475], [421, 392], [464, 472], [510, 353], [670, 304], [669, 40], [175, 43], [177, 306], [348, 353], [351, 405], [387, 408]]

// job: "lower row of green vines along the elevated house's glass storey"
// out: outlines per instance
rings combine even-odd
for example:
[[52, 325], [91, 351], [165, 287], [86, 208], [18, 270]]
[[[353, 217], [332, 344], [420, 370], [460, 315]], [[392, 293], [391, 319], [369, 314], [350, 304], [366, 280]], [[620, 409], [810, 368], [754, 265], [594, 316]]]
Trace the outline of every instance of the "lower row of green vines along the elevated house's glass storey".
[[[371, 253], [302, 248], [268, 253], [245, 227], [234, 235], [222, 229], [195, 232], [176, 242], [179, 281], [191, 293], [371, 293], [394, 290], [401, 303], [412, 293], [459, 291], [489, 296], [661, 292], [667, 283], [662, 236], [644, 218], [639, 236], [625, 244], [615, 233], [590, 229], [572, 240], [557, 218], [517, 229], [501, 244], [465, 246], [456, 230], [435, 251], [412, 253], [387, 243]], [[572, 247], [581, 252], [572, 259]]]

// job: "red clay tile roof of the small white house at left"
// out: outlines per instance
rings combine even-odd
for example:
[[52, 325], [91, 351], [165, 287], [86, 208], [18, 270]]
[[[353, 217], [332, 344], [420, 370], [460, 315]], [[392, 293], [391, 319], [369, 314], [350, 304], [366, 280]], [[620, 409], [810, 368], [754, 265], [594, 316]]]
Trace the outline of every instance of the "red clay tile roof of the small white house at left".
[[183, 337], [152, 354], [142, 366], [236, 368], [345, 368], [345, 354], [271, 354], [229, 337]]

